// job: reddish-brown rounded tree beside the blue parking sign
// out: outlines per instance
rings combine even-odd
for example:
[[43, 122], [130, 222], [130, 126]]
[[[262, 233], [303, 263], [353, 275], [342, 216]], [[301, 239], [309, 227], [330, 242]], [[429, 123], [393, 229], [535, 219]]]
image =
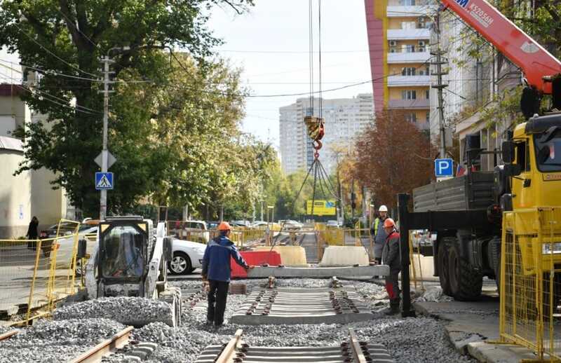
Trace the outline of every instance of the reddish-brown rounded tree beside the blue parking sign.
[[377, 204], [396, 207], [397, 193], [410, 193], [431, 181], [435, 149], [401, 112], [378, 113], [356, 150], [355, 177], [372, 191]]

